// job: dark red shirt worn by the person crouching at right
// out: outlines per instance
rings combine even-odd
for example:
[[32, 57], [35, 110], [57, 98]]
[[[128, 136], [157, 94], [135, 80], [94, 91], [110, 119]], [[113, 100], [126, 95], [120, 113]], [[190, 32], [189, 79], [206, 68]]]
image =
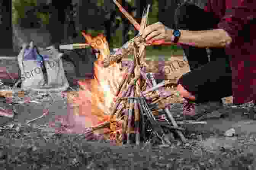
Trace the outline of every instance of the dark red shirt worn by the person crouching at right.
[[256, 100], [256, 1], [208, 0], [205, 11], [214, 13], [219, 19], [216, 29], [232, 38], [226, 54], [230, 55], [234, 103]]

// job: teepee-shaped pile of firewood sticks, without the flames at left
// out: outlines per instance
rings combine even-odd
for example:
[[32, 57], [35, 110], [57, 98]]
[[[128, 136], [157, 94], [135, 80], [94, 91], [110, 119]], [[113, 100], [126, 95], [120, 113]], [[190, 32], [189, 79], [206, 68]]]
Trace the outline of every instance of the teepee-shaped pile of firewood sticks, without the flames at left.
[[[173, 102], [163, 103], [165, 99], [176, 95], [174, 91], [166, 90], [173, 85], [173, 81], [163, 80], [157, 84], [155, 74], [146, 72], [147, 65], [144, 58], [147, 45], [141, 35], [147, 25], [150, 5], [144, 9], [141, 25], [138, 25], [116, 0], [113, 1], [139, 30], [139, 34], [104, 59], [103, 65], [108, 67], [113, 61], [120, 61], [126, 55], [133, 54], [133, 59], [126, 68], [126, 74], [119, 84], [109, 120], [88, 129], [85, 134], [89, 138], [86, 139], [93, 138], [91, 135], [93, 131], [107, 127], [110, 129], [109, 139], [121, 144], [139, 145], [149, 139], [155, 139], [154, 142], [159, 144], [170, 144], [174, 134], [182, 142], [186, 142], [183, 135], [185, 129], [178, 125], [200, 122], [174, 120], [170, 110]], [[118, 122], [115, 120], [122, 120], [122, 128], [117, 128]]]

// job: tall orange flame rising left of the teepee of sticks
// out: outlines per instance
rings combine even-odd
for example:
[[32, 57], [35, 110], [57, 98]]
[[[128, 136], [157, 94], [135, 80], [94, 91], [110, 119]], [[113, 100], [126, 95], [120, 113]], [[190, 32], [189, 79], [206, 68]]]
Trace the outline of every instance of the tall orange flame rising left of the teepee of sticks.
[[77, 121], [85, 122], [86, 128], [110, 121], [109, 132], [115, 132], [121, 128], [121, 124], [115, 121], [115, 117], [110, 120], [110, 109], [116, 97], [118, 84], [123, 78], [124, 70], [120, 70], [121, 63], [115, 62], [107, 68], [103, 67], [103, 60], [110, 55], [106, 37], [102, 34], [96, 37], [92, 37], [85, 32], [82, 32], [82, 34], [88, 44], [99, 51], [99, 54], [98, 59], [94, 62], [93, 79], [79, 80], [78, 84], [81, 89], [78, 96], [72, 99], [70, 97], [69, 101], [77, 107], [73, 114], [78, 116]]

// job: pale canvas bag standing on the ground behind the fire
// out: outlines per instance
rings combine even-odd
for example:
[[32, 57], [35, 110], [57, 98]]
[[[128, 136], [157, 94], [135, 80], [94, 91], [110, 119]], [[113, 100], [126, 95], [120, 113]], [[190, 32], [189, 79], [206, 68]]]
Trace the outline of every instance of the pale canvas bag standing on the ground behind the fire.
[[[38, 61], [38, 53], [43, 58], [46, 74]], [[33, 42], [29, 46], [23, 44], [18, 55], [22, 90], [42, 92], [66, 91], [69, 87], [62, 65], [62, 53], [54, 46], [45, 49], [35, 47]]]

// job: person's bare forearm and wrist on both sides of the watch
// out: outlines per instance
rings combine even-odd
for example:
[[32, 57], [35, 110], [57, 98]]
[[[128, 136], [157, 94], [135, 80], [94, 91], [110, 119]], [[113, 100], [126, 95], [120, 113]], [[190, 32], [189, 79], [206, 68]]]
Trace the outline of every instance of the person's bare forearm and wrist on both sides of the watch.
[[[189, 45], [195, 47], [226, 47], [232, 39], [226, 31], [222, 29], [206, 31], [181, 31], [181, 37], [177, 44]], [[173, 30], [168, 30], [166, 41], [173, 41]]]

